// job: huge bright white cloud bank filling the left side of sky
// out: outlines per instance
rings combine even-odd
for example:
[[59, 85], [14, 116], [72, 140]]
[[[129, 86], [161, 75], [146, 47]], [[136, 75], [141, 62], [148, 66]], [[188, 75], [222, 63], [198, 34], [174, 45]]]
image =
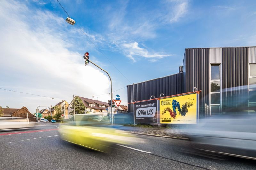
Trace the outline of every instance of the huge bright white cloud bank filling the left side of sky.
[[[0, 1], [0, 17], [1, 86], [55, 98], [35, 100], [38, 98], [0, 91], [1, 105], [26, 106], [33, 112], [39, 105], [70, 102], [73, 94], [90, 97], [110, 91], [106, 75], [91, 65], [84, 66], [83, 54], [75, 52], [72, 44], [75, 28], [63, 18], [30, 10], [16, 1]], [[101, 100], [107, 101], [108, 96]]]

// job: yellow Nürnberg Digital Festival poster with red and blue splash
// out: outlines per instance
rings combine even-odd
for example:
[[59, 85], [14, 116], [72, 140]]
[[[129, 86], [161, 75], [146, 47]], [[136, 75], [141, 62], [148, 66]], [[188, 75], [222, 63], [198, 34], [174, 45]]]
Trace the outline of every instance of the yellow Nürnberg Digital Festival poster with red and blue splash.
[[160, 99], [160, 123], [196, 124], [197, 94]]

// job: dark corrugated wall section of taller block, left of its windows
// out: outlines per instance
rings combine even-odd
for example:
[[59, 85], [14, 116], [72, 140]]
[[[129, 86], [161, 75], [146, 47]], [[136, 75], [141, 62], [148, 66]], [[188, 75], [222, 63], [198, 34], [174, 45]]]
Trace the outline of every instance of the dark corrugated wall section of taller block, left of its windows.
[[184, 92], [193, 92], [193, 88], [202, 90], [200, 93], [200, 117], [204, 117], [204, 105], [209, 105], [209, 48], [191, 48], [185, 50]]

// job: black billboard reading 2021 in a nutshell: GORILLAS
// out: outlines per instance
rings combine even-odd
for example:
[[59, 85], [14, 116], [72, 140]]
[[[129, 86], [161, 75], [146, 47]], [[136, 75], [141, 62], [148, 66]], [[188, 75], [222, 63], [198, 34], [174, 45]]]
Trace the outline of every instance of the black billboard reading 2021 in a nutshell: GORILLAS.
[[134, 103], [135, 123], [157, 123], [157, 100]]

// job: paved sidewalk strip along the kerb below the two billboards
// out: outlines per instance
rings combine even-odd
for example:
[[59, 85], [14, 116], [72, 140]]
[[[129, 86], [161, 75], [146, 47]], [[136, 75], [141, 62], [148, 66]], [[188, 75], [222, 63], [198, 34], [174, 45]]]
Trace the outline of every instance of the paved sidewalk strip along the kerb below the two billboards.
[[179, 128], [123, 127], [122, 129], [139, 135], [188, 140], [185, 130]]

